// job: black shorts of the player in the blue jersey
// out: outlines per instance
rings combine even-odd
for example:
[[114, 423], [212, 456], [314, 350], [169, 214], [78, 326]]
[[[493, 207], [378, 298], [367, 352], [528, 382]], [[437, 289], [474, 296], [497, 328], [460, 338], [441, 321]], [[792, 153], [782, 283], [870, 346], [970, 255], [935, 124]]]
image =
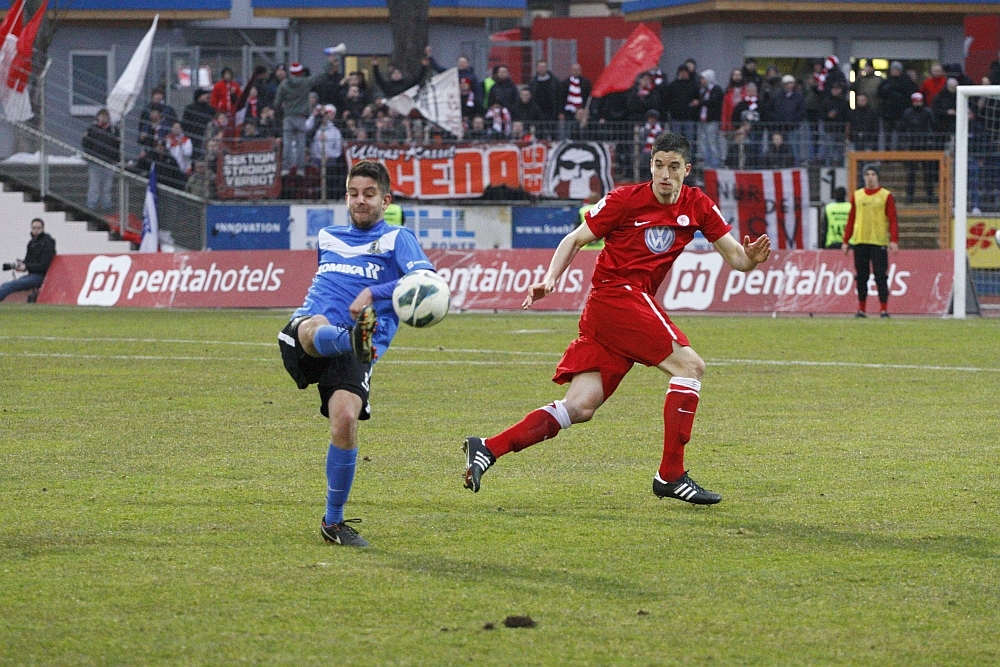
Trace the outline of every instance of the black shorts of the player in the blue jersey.
[[296, 317], [290, 321], [278, 334], [278, 348], [281, 350], [281, 360], [285, 370], [295, 380], [299, 389], [305, 389], [311, 384], [318, 385], [320, 406], [319, 411], [324, 417], [330, 416], [330, 397], [338, 390], [349, 391], [361, 399], [361, 412], [358, 419], [371, 417], [369, 398], [369, 382], [371, 379], [371, 364], [362, 364], [353, 354], [340, 354], [336, 357], [310, 357], [299, 343], [299, 324], [309, 319]]

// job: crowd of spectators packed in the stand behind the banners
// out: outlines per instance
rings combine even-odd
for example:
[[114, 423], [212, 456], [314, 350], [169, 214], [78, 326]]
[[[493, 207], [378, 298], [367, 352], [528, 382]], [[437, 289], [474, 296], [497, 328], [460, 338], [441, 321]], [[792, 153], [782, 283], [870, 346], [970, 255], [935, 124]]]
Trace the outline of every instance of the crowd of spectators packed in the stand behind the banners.
[[[211, 88], [196, 91], [179, 116], [164, 102], [164, 91], [153, 90], [140, 117], [141, 152], [132, 168], [148, 172], [156, 164], [161, 183], [211, 196], [222, 142], [280, 137], [283, 175], [324, 170], [328, 182], [342, 189], [345, 142], [454, 140], [417, 118], [400, 116], [387, 104], [444, 71], [430, 47], [410, 77], [395, 65], [383, 68], [373, 60], [371, 81], [362, 71], [342, 72], [341, 53], [329, 53], [326, 67], [315, 75], [298, 63], [273, 70], [258, 66], [242, 86], [225, 68]], [[954, 134], [956, 87], [973, 83], [957, 65], [935, 63], [922, 77], [898, 61], [884, 75], [869, 62], [851, 82], [845, 74], [850, 70], [834, 56], [812, 63], [805, 76], [773, 65], [761, 72], [749, 58], [724, 79], [688, 59], [672, 78], [653, 69], [640, 74], [627, 91], [592, 99], [592, 83], [578, 63], [560, 80], [540, 60], [521, 85], [505, 65], [493, 67], [483, 80], [467, 58], [458, 58], [455, 66], [463, 141], [610, 141], [616, 146], [616, 175], [624, 180], [647, 175], [649, 147], [666, 129], [691, 141], [699, 168], [840, 166], [850, 149], [941, 150]], [[1000, 79], [1000, 65], [991, 69], [986, 82], [1000, 82], [994, 79]], [[977, 179], [1000, 181], [1000, 158], [985, 150], [1000, 137], [1000, 114], [987, 112], [988, 104], [992, 102], [973, 104], [970, 112], [972, 153], [978, 156], [977, 150], [984, 149], [972, 171]], [[117, 161], [117, 132], [106, 114], [98, 114], [84, 140], [86, 152]], [[630, 171], [632, 165], [640, 171]], [[923, 176], [930, 196], [937, 175], [925, 168]], [[88, 205], [110, 207], [109, 183], [92, 178]], [[911, 173], [908, 198], [914, 194]]]

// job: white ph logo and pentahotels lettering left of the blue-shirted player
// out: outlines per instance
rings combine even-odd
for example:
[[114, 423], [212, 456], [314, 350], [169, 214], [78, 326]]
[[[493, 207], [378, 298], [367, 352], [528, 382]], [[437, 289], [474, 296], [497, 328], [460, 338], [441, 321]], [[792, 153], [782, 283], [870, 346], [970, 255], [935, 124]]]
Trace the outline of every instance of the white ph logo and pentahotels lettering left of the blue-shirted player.
[[131, 275], [132, 258], [128, 255], [106, 257], [98, 255], [90, 261], [87, 278], [77, 296], [81, 306], [114, 306], [128, 282], [126, 301], [142, 293], [167, 292], [276, 292], [281, 289], [282, 268], [268, 262], [266, 268], [220, 269], [215, 262], [207, 269], [184, 266], [178, 269], [140, 269]]

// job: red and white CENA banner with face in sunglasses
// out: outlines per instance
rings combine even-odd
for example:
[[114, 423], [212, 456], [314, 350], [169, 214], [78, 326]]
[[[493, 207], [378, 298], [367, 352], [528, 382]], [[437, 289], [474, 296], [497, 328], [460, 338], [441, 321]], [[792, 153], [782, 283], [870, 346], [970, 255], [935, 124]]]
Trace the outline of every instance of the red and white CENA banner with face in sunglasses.
[[614, 187], [611, 146], [594, 141], [537, 141], [523, 146], [409, 146], [348, 144], [348, 167], [378, 160], [389, 170], [393, 194], [410, 199], [482, 197], [506, 186], [530, 195], [584, 199]]

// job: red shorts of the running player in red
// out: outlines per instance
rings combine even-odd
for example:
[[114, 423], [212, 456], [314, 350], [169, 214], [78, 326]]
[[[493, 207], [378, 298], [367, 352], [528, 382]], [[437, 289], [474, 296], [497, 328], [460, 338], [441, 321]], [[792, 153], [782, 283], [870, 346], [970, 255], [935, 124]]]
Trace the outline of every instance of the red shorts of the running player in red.
[[690, 346], [653, 297], [629, 285], [602, 287], [587, 298], [580, 337], [566, 348], [552, 380], [566, 384], [579, 373], [600, 371], [607, 400], [632, 364], [659, 365], [673, 353], [675, 342]]

